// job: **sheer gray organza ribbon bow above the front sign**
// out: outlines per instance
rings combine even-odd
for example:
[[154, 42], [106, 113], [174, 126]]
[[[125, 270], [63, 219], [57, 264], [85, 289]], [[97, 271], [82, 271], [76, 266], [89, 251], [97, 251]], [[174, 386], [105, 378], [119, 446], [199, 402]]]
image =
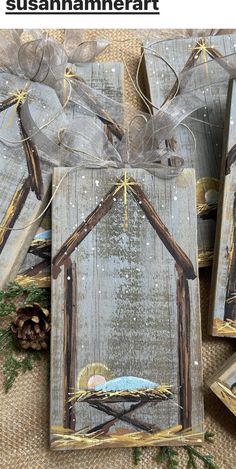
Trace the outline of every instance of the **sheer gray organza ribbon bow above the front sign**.
[[[10, 34], [10, 33], [9, 33]], [[68, 59], [76, 62], [86, 55], [86, 47], [75, 48], [68, 55], [64, 47], [50, 38], [40, 37], [18, 47], [14, 51], [15, 65], [11, 60], [10, 43], [16, 44], [16, 32], [12, 32], [5, 44], [5, 67], [25, 79], [37, 80], [58, 87], [58, 94], [65, 85]], [[36, 34], [36, 33], [34, 33]], [[74, 36], [68, 35], [71, 48]], [[71, 41], [71, 42], [70, 42]], [[3, 43], [4, 41], [2, 41]], [[104, 44], [103, 44], [104, 45]], [[7, 47], [9, 49], [6, 53]], [[95, 47], [95, 46], [94, 46]], [[102, 48], [102, 45], [101, 45]], [[102, 49], [99, 49], [100, 51]], [[104, 48], [104, 47], [103, 47]], [[98, 44], [93, 49], [98, 53]], [[3, 61], [3, 62], [4, 62]], [[8, 63], [7, 63], [8, 61]], [[140, 167], [159, 177], [175, 177], [184, 168], [184, 159], [168, 144], [174, 130], [184, 124], [187, 117], [205, 106], [204, 93], [212, 85], [227, 83], [235, 76], [236, 54], [209, 58], [206, 63], [194, 64], [190, 70], [179, 74], [178, 94], [167, 100], [154, 116], [138, 113], [92, 90], [83, 80], [69, 81], [70, 100], [79, 106], [80, 117], [58, 128], [57, 141], [52, 141], [33, 120], [29, 100], [22, 104], [21, 119], [27, 135], [49, 155], [53, 164], [90, 167]], [[55, 79], [57, 78], [57, 79]], [[52, 85], [53, 81], [53, 85]], [[56, 83], [56, 85], [55, 85]], [[60, 85], [60, 86], [58, 86]], [[10, 90], [9, 90], [10, 91]], [[12, 90], [11, 90], [12, 91]], [[224, 96], [225, 99], [225, 96]], [[96, 120], [94, 118], [99, 118]], [[124, 131], [124, 121], [127, 122]], [[103, 125], [113, 125], [115, 139], [109, 139]], [[119, 130], [119, 132], [117, 131]], [[117, 131], [117, 132], [116, 132]], [[1, 134], [0, 134], [1, 139]]]

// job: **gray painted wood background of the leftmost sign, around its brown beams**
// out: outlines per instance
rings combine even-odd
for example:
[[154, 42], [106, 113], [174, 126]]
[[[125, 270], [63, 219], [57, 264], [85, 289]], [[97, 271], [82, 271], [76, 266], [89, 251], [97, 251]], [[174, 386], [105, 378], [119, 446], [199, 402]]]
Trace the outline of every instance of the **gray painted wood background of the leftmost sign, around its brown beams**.
[[[13, 75], [1, 73], [0, 75], [0, 102], [9, 97], [12, 92], [25, 87], [26, 82]], [[43, 126], [61, 110], [61, 105], [55, 91], [38, 83], [30, 84], [29, 106], [32, 116], [39, 127]], [[5, 224], [5, 215], [17, 190], [22, 188], [28, 176], [26, 157], [21, 143], [6, 144], [6, 140], [20, 140], [21, 135], [17, 125], [17, 113], [12, 116], [12, 108], [0, 113], [0, 224]], [[45, 135], [51, 139], [57, 136], [56, 129], [64, 120], [61, 116], [44, 130]], [[9, 123], [9, 126], [8, 126]], [[50, 155], [38, 150], [44, 191], [42, 200], [37, 200], [35, 193], [29, 191], [23, 209], [21, 210], [14, 227], [23, 227], [37, 218], [42, 212], [49, 195], [50, 171], [52, 164]], [[12, 231], [0, 254], [0, 287], [13, 280], [27, 253], [32, 237], [36, 232], [40, 220], [21, 231]], [[4, 234], [1, 230], [1, 236]]]

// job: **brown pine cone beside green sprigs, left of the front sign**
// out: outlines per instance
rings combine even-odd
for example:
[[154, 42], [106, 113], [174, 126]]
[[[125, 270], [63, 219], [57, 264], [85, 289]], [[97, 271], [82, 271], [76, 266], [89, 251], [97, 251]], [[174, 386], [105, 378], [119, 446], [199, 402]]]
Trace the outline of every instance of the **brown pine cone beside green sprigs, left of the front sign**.
[[50, 331], [48, 309], [37, 303], [17, 308], [11, 330], [19, 348], [46, 350]]

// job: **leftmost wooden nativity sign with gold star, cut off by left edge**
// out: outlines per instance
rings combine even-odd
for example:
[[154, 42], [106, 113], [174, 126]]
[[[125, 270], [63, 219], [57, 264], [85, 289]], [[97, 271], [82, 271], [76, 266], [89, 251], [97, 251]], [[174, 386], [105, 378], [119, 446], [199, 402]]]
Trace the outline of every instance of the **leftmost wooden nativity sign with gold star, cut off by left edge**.
[[[9, 96], [9, 90], [12, 94]], [[27, 94], [28, 93], [28, 94]], [[27, 98], [26, 98], [27, 95]], [[33, 140], [27, 139], [21, 119], [23, 101], [28, 99], [38, 127], [55, 141], [63, 125], [61, 104], [51, 88], [26, 82], [7, 73], [0, 74], [0, 287], [13, 280], [27, 253], [49, 195], [53, 161]], [[30, 225], [30, 226], [29, 226]], [[12, 229], [25, 227], [23, 230]]]

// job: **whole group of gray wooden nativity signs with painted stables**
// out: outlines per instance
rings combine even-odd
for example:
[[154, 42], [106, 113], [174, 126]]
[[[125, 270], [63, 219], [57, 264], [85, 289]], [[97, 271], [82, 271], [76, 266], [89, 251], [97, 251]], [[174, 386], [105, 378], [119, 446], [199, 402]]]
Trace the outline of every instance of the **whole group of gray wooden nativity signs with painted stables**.
[[[172, 102], [181, 95], [182, 69], [194, 72], [200, 63], [208, 77], [214, 64], [225, 68], [235, 44], [233, 35], [144, 44], [154, 116], [170, 96]], [[51, 285], [51, 447], [200, 444], [198, 266], [212, 263], [215, 230], [210, 332], [236, 336], [235, 82], [226, 111], [232, 75], [208, 80], [201, 108], [164, 142], [173, 174], [163, 178], [158, 158], [149, 168], [143, 156], [141, 164], [123, 156], [114, 164], [109, 156], [136, 148], [125, 113], [123, 123], [122, 113], [116, 120], [97, 93], [123, 102], [123, 65], [77, 64], [65, 75], [72, 84], [66, 105], [65, 90], [0, 76], [1, 286], [15, 278]], [[70, 138], [62, 141], [65, 129]], [[163, 155], [155, 128], [152, 139], [152, 151], [156, 145]], [[67, 158], [50, 154], [55, 147]], [[108, 155], [106, 164], [91, 164], [93, 152]], [[76, 164], [81, 153], [88, 164]], [[175, 173], [177, 153], [184, 169]], [[51, 188], [51, 210], [42, 218]]]

